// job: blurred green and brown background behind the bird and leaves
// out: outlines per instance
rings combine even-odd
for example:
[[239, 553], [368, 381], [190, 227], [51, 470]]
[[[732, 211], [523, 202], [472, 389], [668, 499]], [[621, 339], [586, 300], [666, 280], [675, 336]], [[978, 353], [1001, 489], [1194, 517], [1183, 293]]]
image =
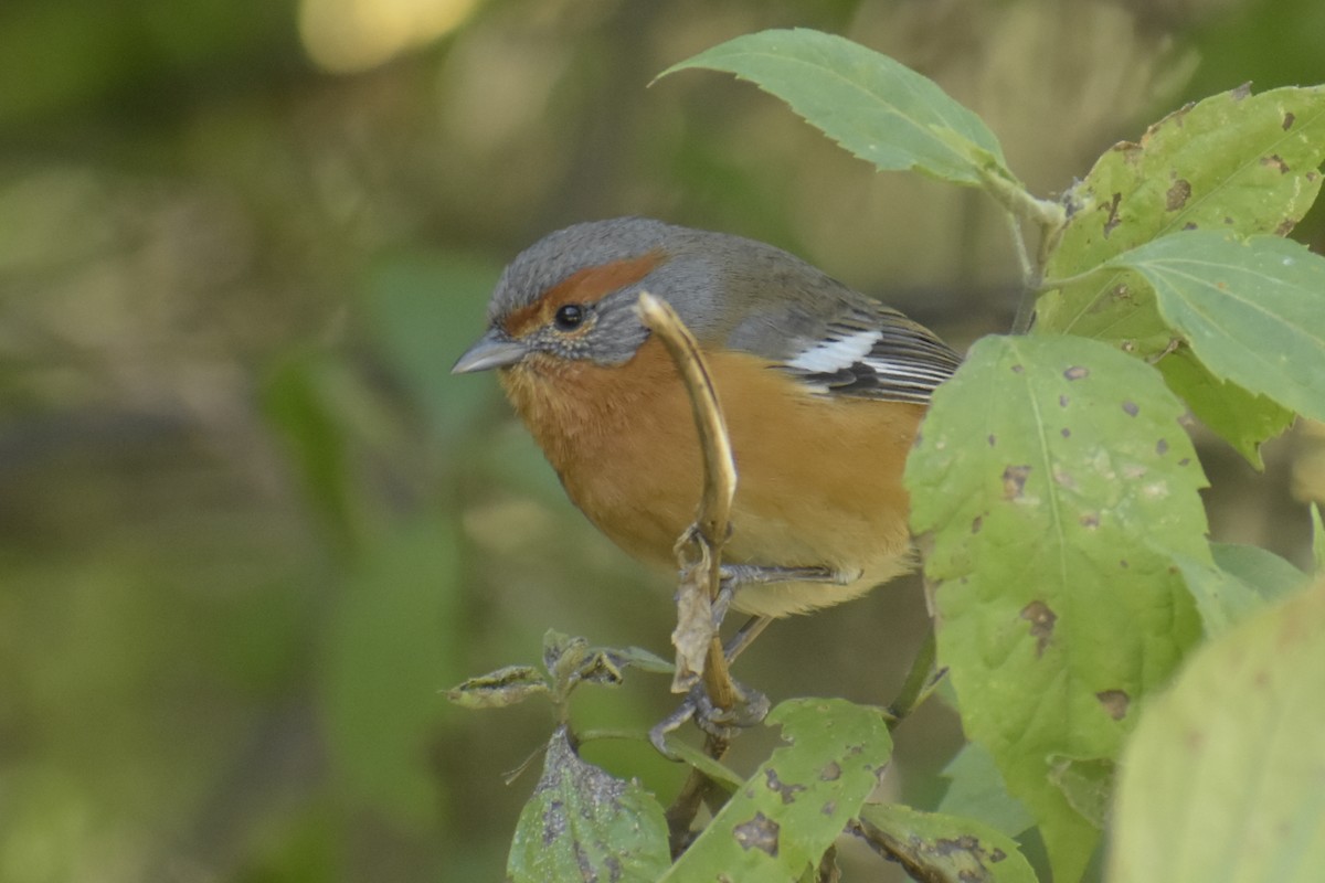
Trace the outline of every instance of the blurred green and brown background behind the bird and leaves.
[[[958, 347], [1008, 323], [979, 193], [876, 175], [725, 75], [649, 86], [790, 25], [937, 79], [1041, 195], [1190, 98], [1325, 82], [1318, 0], [0, 5], [0, 882], [501, 879], [537, 767], [502, 772], [550, 716], [441, 691], [549, 627], [664, 654], [670, 630], [666, 580], [566, 503], [493, 379], [448, 375], [501, 265], [652, 214], [792, 249]], [[1325, 244], [1321, 213], [1297, 236]], [[1215, 535], [1302, 563], [1318, 430], [1264, 474], [1199, 441]], [[886, 702], [924, 616], [902, 581], [779, 624], [739, 674]], [[673, 703], [639, 675], [575, 719]], [[951, 716], [898, 740], [890, 786], [933, 806]], [[588, 756], [680, 782], [635, 744]]]

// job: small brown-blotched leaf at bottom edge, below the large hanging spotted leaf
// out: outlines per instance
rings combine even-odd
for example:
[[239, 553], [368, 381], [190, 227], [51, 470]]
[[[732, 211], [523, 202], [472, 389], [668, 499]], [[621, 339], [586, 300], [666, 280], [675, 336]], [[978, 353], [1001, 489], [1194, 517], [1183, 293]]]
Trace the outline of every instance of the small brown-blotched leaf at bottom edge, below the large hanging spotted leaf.
[[1035, 883], [1035, 871], [1016, 841], [975, 819], [900, 804], [868, 804], [860, 821], [867, 838], [900, 862], [912, 879]]

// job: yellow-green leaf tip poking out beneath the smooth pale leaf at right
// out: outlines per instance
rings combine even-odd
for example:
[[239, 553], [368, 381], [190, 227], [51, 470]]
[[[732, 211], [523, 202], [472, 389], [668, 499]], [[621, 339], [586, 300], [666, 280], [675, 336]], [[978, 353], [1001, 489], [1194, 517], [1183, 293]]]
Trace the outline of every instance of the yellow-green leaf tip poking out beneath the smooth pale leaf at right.
[[1281, 434], [1297, 418], [1279, 402], [1214, 376], [1187, 347], [1166, 355], [1157, 367], [1191, 413], [1256, 469], [1265, 467], [1260, 459], [1261, 442]]

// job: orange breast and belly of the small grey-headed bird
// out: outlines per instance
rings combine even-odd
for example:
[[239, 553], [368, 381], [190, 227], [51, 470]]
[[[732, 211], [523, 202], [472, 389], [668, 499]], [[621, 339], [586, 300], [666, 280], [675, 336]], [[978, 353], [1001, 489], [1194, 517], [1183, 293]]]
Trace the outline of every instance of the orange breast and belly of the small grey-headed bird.
[[[747, 353], [708, 353], [737, 461], [725, 560], [863, 572], [851, 586], [761, 586], [737, 606], [782, 614], [859, 594], [905, 569], [902, 467], [920, 405], [816, 396]], [[623, 549], [674, 565], [702, 465], [690, 404], [649, 340], [627, 365], [534, 357], [504, 385], [571, 500]], [[770, 609], [763, 609], [770, 608]]]

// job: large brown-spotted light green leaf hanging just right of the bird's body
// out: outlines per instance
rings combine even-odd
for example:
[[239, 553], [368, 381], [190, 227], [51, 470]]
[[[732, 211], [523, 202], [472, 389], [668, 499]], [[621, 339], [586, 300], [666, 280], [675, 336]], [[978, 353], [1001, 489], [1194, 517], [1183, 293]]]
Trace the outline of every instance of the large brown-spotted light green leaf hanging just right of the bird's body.
[[935, 392], [908, 461], [963, 729], [1035, 817], [1057, 879], [1080, 878], [1098, 831], [1051, 781], [1051, 756], [1116, 757], [1130, 710], [1199, 634], [1170, 560], [1210, 557], [1182, 413], [1109, 346], [986, 338]]

